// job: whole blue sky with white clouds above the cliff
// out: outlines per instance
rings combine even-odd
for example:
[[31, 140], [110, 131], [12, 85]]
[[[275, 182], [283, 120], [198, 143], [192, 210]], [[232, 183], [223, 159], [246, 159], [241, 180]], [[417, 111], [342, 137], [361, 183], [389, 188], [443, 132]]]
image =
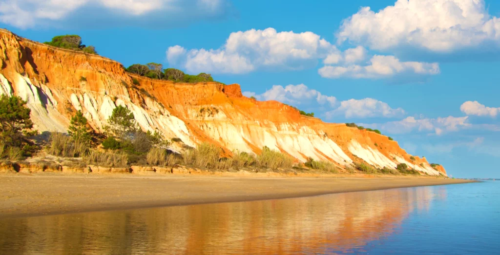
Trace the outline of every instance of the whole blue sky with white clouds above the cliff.
[[500, 1], [2, 0], [0, 26], [211, 73], [379, 129], [452, 177], [500, 178]]

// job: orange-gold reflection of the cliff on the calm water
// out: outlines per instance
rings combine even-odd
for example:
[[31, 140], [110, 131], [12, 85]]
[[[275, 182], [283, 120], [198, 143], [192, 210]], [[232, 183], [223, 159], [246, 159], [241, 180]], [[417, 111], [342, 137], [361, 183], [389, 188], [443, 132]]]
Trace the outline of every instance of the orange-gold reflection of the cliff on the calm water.
[[360, 248], [445, 189], [0, 220], [0, 254], [297, 254]]

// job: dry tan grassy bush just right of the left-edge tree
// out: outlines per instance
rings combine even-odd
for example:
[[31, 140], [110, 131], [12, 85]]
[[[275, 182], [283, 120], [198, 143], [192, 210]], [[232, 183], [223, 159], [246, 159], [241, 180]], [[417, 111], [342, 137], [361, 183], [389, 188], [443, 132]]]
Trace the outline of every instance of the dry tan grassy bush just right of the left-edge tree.
[[46, 152], [66, 158], [82, 157], [88, 152], [88, 144], [75, 141], [66, 134], [52, 132], [50, 133]]

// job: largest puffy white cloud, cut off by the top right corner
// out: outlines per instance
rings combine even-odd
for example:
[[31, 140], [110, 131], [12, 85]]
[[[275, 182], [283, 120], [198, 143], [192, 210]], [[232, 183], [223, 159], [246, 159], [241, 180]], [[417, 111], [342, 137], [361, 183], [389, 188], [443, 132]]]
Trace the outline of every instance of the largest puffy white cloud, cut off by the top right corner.
[[376, 50], [410, 46], [446, 53], [498, 45], [500, 19], [487, 13], [483, 0], [397, 0], [378, 12], [360, 8], [342, 21], [337, 38]]

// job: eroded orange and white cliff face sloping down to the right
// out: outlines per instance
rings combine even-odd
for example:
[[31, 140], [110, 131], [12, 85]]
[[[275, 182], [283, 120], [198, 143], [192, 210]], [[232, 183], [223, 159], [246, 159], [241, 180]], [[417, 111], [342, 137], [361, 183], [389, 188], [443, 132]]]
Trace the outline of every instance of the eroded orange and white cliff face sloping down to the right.
[[267, 146], [302, 162], [311, 157], [343, 167], [364, 161], [377, 168], [405, 163], [429, 175], [445, 174], [424, 158], [411, 160], [386, 136], [324, 123], [280, 102], [244, 97], [237, 84], [152, 80], [125, 72], [113, 60], [33, 42], [7, 30], [0, 30], [0, 66], [0, 93], [26, 100], [39, 131], [66, 132], [76, 110], [102, 131], [113, 108], [122, 105], [143, 130], [180, 138], [188, 146], [206, 141], [226, 154], [259, 153]]

